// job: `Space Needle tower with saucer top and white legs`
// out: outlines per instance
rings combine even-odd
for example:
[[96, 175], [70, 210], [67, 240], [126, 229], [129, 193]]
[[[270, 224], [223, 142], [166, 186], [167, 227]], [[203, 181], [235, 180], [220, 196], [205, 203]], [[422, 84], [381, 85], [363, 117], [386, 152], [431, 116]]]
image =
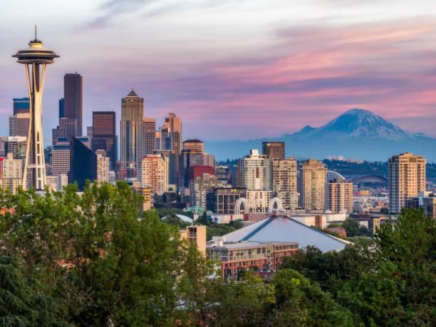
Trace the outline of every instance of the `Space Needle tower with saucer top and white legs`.
[[30, 123], [28, 126], [26, 163], [24, 165], [24, 190], [34, 188], [44, 190], [46, 185], [46, 163], [42, 135], [41, 100], [44, 76], [49, 63], [59, 56], [43, 48], [43, 43], [36, 37], [28, 43], [28, 48], [18, 51], [13, 57], [26, 65], [28, 95], [30, 98]]

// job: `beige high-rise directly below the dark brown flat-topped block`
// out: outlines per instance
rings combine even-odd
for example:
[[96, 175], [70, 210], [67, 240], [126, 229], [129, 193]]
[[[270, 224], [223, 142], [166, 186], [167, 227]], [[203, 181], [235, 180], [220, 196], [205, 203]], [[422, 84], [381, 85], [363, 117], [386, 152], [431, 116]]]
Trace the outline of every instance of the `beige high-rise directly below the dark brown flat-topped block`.
[[274, 159], [272, 162], [272, 190], [275, 197], [281, 199], [283, 207], [293, 209], [299, 206], [297, 191], [297, 162], [294, 157]]

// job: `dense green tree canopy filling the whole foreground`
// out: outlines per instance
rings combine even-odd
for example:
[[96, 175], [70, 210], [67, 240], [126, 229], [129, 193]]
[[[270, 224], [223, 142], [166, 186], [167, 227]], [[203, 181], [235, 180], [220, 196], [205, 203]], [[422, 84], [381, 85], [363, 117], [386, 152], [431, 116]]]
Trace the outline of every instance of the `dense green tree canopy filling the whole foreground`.
[[[436, 224], [422, 210], [385, 222], [368, 246], [299, 250], [264, 284], [249, 271], [223, 280], [173, 214], [139, 215], [124, 182], [76, 191], [0, 190], [0, 325], [436, 324]], [[208, 224], [208, 237], [239, 225]]]

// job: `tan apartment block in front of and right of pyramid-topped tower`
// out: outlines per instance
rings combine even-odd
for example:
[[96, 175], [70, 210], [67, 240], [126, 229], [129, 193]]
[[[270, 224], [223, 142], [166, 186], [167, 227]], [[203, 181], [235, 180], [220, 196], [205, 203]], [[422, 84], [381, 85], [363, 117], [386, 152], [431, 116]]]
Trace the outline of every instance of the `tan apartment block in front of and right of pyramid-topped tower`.
[[168, 159], [160, 155], [147, 155], [142, 158], [140, 169], [141, 185], [152, 194], [162, 195], [168, 190]]

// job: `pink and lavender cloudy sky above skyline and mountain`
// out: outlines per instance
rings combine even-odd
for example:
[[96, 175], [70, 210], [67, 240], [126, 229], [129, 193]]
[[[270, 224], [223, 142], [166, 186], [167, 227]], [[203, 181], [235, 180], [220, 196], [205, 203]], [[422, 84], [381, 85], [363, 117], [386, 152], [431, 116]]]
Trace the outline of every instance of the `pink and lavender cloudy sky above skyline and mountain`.
[[[131, 88], [183, 138], [247, 140], [318, 127], [351, 108], [436, 137], [436, 1], [0, 1], [0, 135], [28, 96], [11, 55], [38, 38], [48, 67], [43, 133], [63, 75], [83, 75], [83, 128]], [[119, 123], [117, 123], [119, 130]]]

